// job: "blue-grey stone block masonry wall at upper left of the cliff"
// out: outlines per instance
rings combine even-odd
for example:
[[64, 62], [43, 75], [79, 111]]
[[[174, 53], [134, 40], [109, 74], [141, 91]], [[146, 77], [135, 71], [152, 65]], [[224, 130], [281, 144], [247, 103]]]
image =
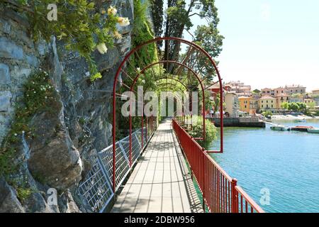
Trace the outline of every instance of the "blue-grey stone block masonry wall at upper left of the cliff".
[[45, 55], [45, 45], [28, 35], [26, 18], [0, 8], [0, 143], [6, 135], [22, 84]]

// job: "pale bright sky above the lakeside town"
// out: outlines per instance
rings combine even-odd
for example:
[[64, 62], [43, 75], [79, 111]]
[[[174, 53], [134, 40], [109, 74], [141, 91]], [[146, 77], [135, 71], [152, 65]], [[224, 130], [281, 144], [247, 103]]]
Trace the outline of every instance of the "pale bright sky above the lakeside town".
[[[215, 0], [225, 37], [220, 61], [223, 81], [253, 89], [301, 84], [319, 88], [318, 0]], [[194, 18], [196, 27], [205, 23]], [[184, 38], [191, 36], [184, 33]]]

